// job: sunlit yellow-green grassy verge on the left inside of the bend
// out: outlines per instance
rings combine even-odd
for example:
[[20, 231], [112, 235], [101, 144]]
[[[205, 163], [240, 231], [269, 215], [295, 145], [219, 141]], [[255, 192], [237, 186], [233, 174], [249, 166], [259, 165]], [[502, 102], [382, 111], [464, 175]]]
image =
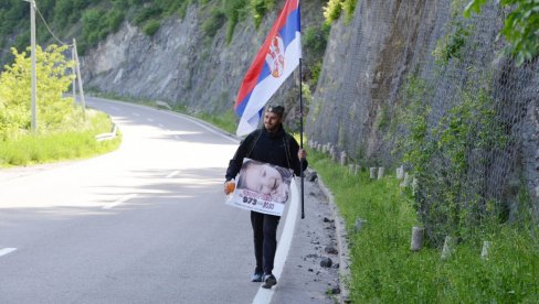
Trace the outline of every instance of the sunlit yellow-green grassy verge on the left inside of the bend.
[[119, 135], [113, 140], [95, 140], [96, 134], [110, 132], [110, 119], [105, 113], [93, 110], [87, 110], [87, 117], [83, 131], [28, 134], [1, 142], [0, 167], [87, 159], [116, 150], [121, 142]]

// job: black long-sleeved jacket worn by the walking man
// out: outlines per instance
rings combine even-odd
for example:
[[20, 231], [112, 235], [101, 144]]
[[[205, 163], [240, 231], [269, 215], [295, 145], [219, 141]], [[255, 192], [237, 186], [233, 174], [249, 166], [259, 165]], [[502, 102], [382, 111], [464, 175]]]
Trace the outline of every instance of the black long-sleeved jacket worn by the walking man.
[[[230, 160], [225, 175], [226, 181], [235, 178], [242, 169], [244, 158], [292, 169], [294, 174], [299, 176], [298, 150], [299, 144], [296, 139], [285, 132], [283, 124], [273, 133], [266, 131], [264, 127], [257, 129], [245, 137], [240, 143], [234, 158]], [[307, 165], [307, 160], [303, 160], [303, 170]]]

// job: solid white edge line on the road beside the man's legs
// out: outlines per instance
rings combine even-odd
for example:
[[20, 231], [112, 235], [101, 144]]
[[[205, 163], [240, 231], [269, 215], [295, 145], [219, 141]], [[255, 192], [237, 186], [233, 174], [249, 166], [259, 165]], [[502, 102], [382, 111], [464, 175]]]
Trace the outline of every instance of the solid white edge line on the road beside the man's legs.
[[[281, 273], [283, 272], [286, 257], [288, 256], [288, 251], [290, 250], [292, 237], [294, 236], [294, 228], [296, 227], [296, 218], [299, 208], [299, 194], [297, 191], [296, 181], [294, 178], [290, 183], [290, 208], [288, 209], [288, 214], [286, 215], [285, 227], [283, 228], [283, 232], [281, 234], [281, 239], [277, 242], [277, 252], [275, 252], [275, 264], [273, 268], [273, 274], [277, 278], [277, 281], [281, 279]], [[276, 287], [278, 289], [278, 283]], [[272, 296], [274, 292], [275, 287], [263, 289], [261, 286], [253, 298], [253, 304], [266, 304], [272, 302]]]

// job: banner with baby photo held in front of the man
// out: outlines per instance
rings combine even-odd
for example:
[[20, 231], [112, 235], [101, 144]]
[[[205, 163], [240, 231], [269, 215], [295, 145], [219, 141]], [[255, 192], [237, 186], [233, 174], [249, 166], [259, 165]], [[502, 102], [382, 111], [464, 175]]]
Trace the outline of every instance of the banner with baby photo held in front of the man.
[[282, 216], [290, 196], [293, 172], [282, 166], [244, 159], [236, 187], [226, 204], [262, 214]]

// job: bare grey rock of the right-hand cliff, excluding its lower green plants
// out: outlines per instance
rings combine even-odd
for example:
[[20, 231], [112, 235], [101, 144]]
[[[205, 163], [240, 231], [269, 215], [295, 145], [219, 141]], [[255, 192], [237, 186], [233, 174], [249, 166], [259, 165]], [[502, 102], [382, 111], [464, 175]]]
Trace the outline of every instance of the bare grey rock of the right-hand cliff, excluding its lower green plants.
[[[477, 187], [467, 194], [514, 200], [511, 181], [521, 176], [539, 213], [539, 61], [515, 67], [496, 40], [504, 12], [487, 6], [466, 20], [465, 3], [458, 2], [359, 1], [349, 23], [341, 18], [331, 29], [307, 137], [332, 143], [352, 162], [397, 166], [388, 135], [409, 131], [397, 118], [410, 104], [408, 91], [420, 89], [408, 85], [410, 79], [423, 82], [421, 102], [432, 109], [431, 127], [466, 97], [488, 91], [509, 143], [497, 151], [468, 151], [469, 170], [462, 178]], [[444, 169], [444, 160], [435, 165]]]

